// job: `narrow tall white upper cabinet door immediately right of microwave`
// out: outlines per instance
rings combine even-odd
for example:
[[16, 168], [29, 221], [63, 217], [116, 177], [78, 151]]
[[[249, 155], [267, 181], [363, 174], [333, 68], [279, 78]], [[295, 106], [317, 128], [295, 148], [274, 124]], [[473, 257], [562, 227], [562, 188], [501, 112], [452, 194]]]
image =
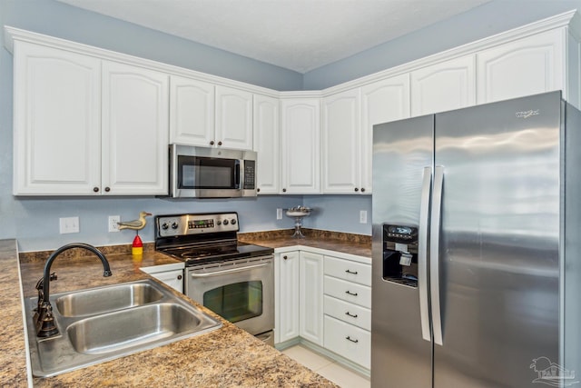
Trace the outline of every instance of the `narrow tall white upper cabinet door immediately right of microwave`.
[[258, 194], [279, 194], [280, 191], [280, 117], [278, 98], [254, 95], [254, 151], [257, 160]]

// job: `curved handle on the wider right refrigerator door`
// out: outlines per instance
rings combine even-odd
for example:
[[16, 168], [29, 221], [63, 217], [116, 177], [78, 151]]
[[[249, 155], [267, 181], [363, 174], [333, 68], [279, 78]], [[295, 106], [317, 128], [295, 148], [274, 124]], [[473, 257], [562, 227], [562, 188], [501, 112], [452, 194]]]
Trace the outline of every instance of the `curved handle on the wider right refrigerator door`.
[[442, 188], [444, 184], [444, 166], [434, 168], [434, 187], [432, 194], [432, 214], [430, 218], [430, 246], [429, 246], [429, 285], [432, 312], [432, 328], [434, 343], [442, 345], [442, 317], [439, 303], [439, 232], [442, 208]]

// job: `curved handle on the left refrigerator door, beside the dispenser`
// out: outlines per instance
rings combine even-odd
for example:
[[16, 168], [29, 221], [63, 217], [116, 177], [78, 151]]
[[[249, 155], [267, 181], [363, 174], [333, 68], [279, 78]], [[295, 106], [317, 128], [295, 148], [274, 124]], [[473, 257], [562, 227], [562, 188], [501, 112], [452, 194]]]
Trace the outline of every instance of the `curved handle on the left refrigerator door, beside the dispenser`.
[[421, 200], [419, 204], [418, 288], [421, 337], [426, 341], [431, 341], [428, 308], [428, 227], [431, 185], [432, 167], [424, 167], [424, 176], [421, 185]]

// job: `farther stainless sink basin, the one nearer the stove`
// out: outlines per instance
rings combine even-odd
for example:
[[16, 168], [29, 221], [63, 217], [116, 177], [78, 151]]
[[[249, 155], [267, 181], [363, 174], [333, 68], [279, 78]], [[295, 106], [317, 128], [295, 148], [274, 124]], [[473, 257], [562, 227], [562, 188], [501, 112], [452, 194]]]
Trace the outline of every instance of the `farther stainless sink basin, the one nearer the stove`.
[[151, 284], [133, 283], [67, 293], [58, 297], [54, 304], [63, 316], [84, 316], [153, 303], [162, 297], [163, 294]]

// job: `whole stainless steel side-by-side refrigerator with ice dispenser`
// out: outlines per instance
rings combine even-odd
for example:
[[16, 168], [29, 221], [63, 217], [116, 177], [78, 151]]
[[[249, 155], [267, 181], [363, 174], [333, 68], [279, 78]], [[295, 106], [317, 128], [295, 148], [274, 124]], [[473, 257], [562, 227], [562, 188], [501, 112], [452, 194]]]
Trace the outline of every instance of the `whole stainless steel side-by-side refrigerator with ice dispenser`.
[[560, 92], [375, 125], [372, 212], [373, 387], [581, 388], [581, 114]]

